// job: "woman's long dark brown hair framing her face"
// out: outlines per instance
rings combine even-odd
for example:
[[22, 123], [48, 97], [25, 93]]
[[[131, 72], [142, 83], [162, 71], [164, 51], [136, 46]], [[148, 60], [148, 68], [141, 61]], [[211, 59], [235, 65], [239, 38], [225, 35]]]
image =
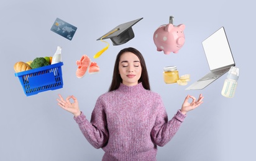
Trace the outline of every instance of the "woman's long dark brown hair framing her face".
[[112, 77], [111, 85], [109, 87], [109, 92], [112, 90], [118, 89], [118, 87], [122, 83], [122, 78], [119, 74], [119, 61], [120, 61], [121, 55], [126, 52], [131, 52], [131, 53], [134, 53], [136, 56], [138, 56], [138, 58], [140, 60], [140, 66], [142, 68], [141, 76], [140, 76], [140, 79], [138, 82], [142, 82], [144, 89], [150, 90], [149, 75], [147, 73], [147, 67], [145, 64], [145, 60], [144, 60], [142, 54], [140, 53], [140, 51], [138, 51], [135, 48], [130, 47], [130, 48], [122, 49], [121, 51], [119, 51], [119, 53], [116, 56], [116, 63], [114, 64], [113, 77]]

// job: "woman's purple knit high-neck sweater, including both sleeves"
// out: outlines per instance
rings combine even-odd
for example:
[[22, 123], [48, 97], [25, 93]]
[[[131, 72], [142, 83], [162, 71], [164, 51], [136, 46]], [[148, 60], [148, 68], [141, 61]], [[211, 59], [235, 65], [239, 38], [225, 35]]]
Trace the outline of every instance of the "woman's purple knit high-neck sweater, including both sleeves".
[[101, 95], [91, 121], [81, 113], [74, 118], [95, 148], [105, 152], [103, 160], [156, 160], [157, 146], [171, 140], [185, 119], [180, 110], [168, 121], [162, 98], [141, 83], [121, 84]]

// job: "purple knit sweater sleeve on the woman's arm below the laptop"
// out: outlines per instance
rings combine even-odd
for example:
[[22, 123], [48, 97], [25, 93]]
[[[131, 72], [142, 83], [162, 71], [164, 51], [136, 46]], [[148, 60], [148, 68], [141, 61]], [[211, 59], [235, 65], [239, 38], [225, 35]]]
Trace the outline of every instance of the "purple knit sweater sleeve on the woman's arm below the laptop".
[[178, 110], [175, 116], [168, 121], [167, 112], [160, 97], [157, 98], [156, 111], [157, 118], [151, 131], [151, 136], [155, 144], [158, 146], [165, 146], [165, 144], [175, 136], [186, 115], [183, 115], [181, 111]]

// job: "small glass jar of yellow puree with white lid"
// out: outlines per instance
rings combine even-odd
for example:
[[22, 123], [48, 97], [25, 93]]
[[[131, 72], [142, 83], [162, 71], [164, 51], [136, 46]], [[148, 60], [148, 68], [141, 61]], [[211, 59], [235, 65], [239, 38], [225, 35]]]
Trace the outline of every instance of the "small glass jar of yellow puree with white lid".
[[174, 84], [179, 79], [179, 72], [176, 66], [163, 67], [163, 81], [166, 84]]

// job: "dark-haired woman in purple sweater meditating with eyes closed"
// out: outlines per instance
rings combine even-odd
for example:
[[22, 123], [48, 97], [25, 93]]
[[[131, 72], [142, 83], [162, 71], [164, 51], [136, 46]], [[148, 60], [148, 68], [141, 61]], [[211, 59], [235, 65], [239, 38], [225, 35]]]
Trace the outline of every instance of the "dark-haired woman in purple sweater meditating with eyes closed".
[[186, 113], [203, 103], [201, 94], [198, 100], [187, 95], [181, 109], [168, 121], [162, 98], [150, 90], [144, 58], [135, 48], [124, 48], [117, 54], [109, 92], [99, 96], [91, 121], [80, 111], [76, 97], [59, 97], [58, 105], [74, 115], [92, 146], [104, 150], [103, 160], [111, 161], [156, 160], [157, 146], [167, 144]]

